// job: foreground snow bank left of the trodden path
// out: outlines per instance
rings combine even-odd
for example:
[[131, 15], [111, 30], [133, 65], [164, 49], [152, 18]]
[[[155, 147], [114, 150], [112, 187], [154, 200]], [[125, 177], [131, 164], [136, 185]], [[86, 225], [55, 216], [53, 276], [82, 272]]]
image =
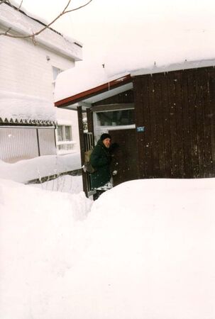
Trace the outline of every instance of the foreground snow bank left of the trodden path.
[[62, 282], [83, 250], [79, 220], [91, 201], [83, 192], [53, 193], [3, 179], [0, 198], [0, 318], [47, 318], [48, 290], [54, 292], [55, 279]]

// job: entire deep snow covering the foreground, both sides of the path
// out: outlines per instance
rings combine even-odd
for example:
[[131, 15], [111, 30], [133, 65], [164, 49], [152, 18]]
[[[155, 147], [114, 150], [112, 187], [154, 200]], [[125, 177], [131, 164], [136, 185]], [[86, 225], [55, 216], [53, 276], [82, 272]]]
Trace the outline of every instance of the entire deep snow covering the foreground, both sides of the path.
[[215, 318], [214, 211], [215, 179], [94, 202], [0, 179], [0, 318]]

